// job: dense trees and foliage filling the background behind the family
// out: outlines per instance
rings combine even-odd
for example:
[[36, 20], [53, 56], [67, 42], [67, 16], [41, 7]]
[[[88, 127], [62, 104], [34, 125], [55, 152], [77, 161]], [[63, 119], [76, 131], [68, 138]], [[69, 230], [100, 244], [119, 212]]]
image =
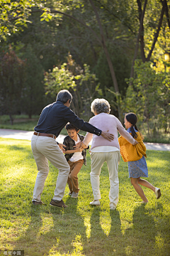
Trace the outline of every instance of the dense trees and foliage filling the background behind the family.
[[4, 1], [0, 115], [40, 114], [57, 92], [86, 121], [96, 97], [123, 122], [136, 112], [149, 140], [169, 137], [169, 0]]

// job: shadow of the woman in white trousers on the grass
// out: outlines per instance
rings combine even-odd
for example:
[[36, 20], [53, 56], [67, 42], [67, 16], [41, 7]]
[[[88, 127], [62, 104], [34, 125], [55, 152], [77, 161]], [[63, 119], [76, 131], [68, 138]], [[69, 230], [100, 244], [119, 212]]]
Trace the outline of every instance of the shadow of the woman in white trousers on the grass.
[[104, 227], [105, 225], [104, 220], [101, 220], [101, 215], [105, 214], [106, 210], [101, 210], [100, 207], [96, 206], [93, 208], [91, 215], [91, 238], [89, 241], [90, 251], [88, 247], [86, 247], [86, 250], [84, 250], [85, 255], [120, 255], [120, 253], [124, 255], [124, 248], [122, 247], [120, 249], [123, 243], [123, 234], [121, 232], [119, 211], [111, 210], [110, 214], [107, 212], [108, 219], [111, 219], [111, 225], [110, 230], [106, 232], [106, 230], [102, 228], [102, 226]]

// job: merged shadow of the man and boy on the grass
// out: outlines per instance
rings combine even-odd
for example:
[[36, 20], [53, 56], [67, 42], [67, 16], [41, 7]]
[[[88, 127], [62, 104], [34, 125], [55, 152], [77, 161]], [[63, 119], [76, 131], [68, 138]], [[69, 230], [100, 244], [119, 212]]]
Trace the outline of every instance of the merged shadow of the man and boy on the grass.
[[65, 209], [31, 205], [31, 221], [16, 241], [16, 249], [25, 250], [25, 256], [67, 254], [77, 250], [86, 239], [84, 220], [77, 213], [78, 198], [67, 198], [65, 203], [69, 205]]

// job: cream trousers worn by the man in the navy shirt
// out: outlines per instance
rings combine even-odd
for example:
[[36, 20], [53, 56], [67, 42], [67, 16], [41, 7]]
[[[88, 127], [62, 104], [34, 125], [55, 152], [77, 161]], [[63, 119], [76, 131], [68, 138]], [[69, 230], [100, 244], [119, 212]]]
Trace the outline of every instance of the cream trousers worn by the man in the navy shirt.
[[49, 172], [48, 160], [59, 170], [55, 196], [53, 199], [61, 201], [64, 196], [64, 190], [70, 170], [69, 164], [67, 163], [62, 150], [57, 145], [55, 139], [36, 135], [33, 135], [31, 139], [31, 148], [38, 168], [38, 175], [33, 191], [33, 201], [40, 202], [40, 196], [44, 188], [45, 179]]

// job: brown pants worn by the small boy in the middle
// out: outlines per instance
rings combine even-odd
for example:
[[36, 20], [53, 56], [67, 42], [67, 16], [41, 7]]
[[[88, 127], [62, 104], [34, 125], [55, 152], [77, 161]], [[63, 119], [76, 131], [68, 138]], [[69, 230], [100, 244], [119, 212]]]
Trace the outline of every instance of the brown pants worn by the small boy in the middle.
[[81, 159], [79, 161], [68, 161], [68, 164], [70, 166], [70, 172], [69, 172], [69, 177], [67, 180], [67, 183], [69, 184], [69, 191], [72, 193], [74, 192], [79, 192], [79, 183], [78, 183], [78, 177], [77, 174], [79, 174], [79, 171], [81, 167], [84, 164], [84, 159]]

